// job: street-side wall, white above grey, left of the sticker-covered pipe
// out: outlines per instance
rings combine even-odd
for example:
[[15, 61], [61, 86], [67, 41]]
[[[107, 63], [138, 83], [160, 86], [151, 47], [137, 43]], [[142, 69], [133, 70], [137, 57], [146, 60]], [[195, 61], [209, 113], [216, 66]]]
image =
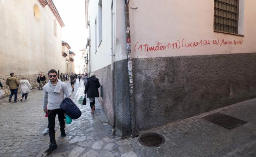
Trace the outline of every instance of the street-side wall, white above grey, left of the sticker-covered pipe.
[[[90, 1], [90, 34], [91, 49], [89, 65], [91, 72], [96, 73], [102, 86], [102, 97], [99, 98], [101, 106], [112, 126], [116, 129], [118, 136], [130, 134], [130, 104], [129, 104], [129, 86], [128, 86], [128, 69], [126, 56], [126, 37], [125, 37], [125, 20], [124, 20], [124, 1], [114, 0], [114, 80], [112, 79], [111, 67], [111, 0], [102, 0], [102, 42], [95, 49], [95, 19], [98, 19], [98, 2], [99, 0]], [[97, 18], [96, 18], [97, 17]], [[97, 21], [98, 23], [98, 21]], [[98, 31], [98, 27], [97, 31]], [[112, 83], [114, 81], [114, 91]], [[114, 94], [114, 102], [112, 95]], [[112, 107], [114, 103], [114, 108]], [[115, 119], [114, 118], [115, 115]]]

